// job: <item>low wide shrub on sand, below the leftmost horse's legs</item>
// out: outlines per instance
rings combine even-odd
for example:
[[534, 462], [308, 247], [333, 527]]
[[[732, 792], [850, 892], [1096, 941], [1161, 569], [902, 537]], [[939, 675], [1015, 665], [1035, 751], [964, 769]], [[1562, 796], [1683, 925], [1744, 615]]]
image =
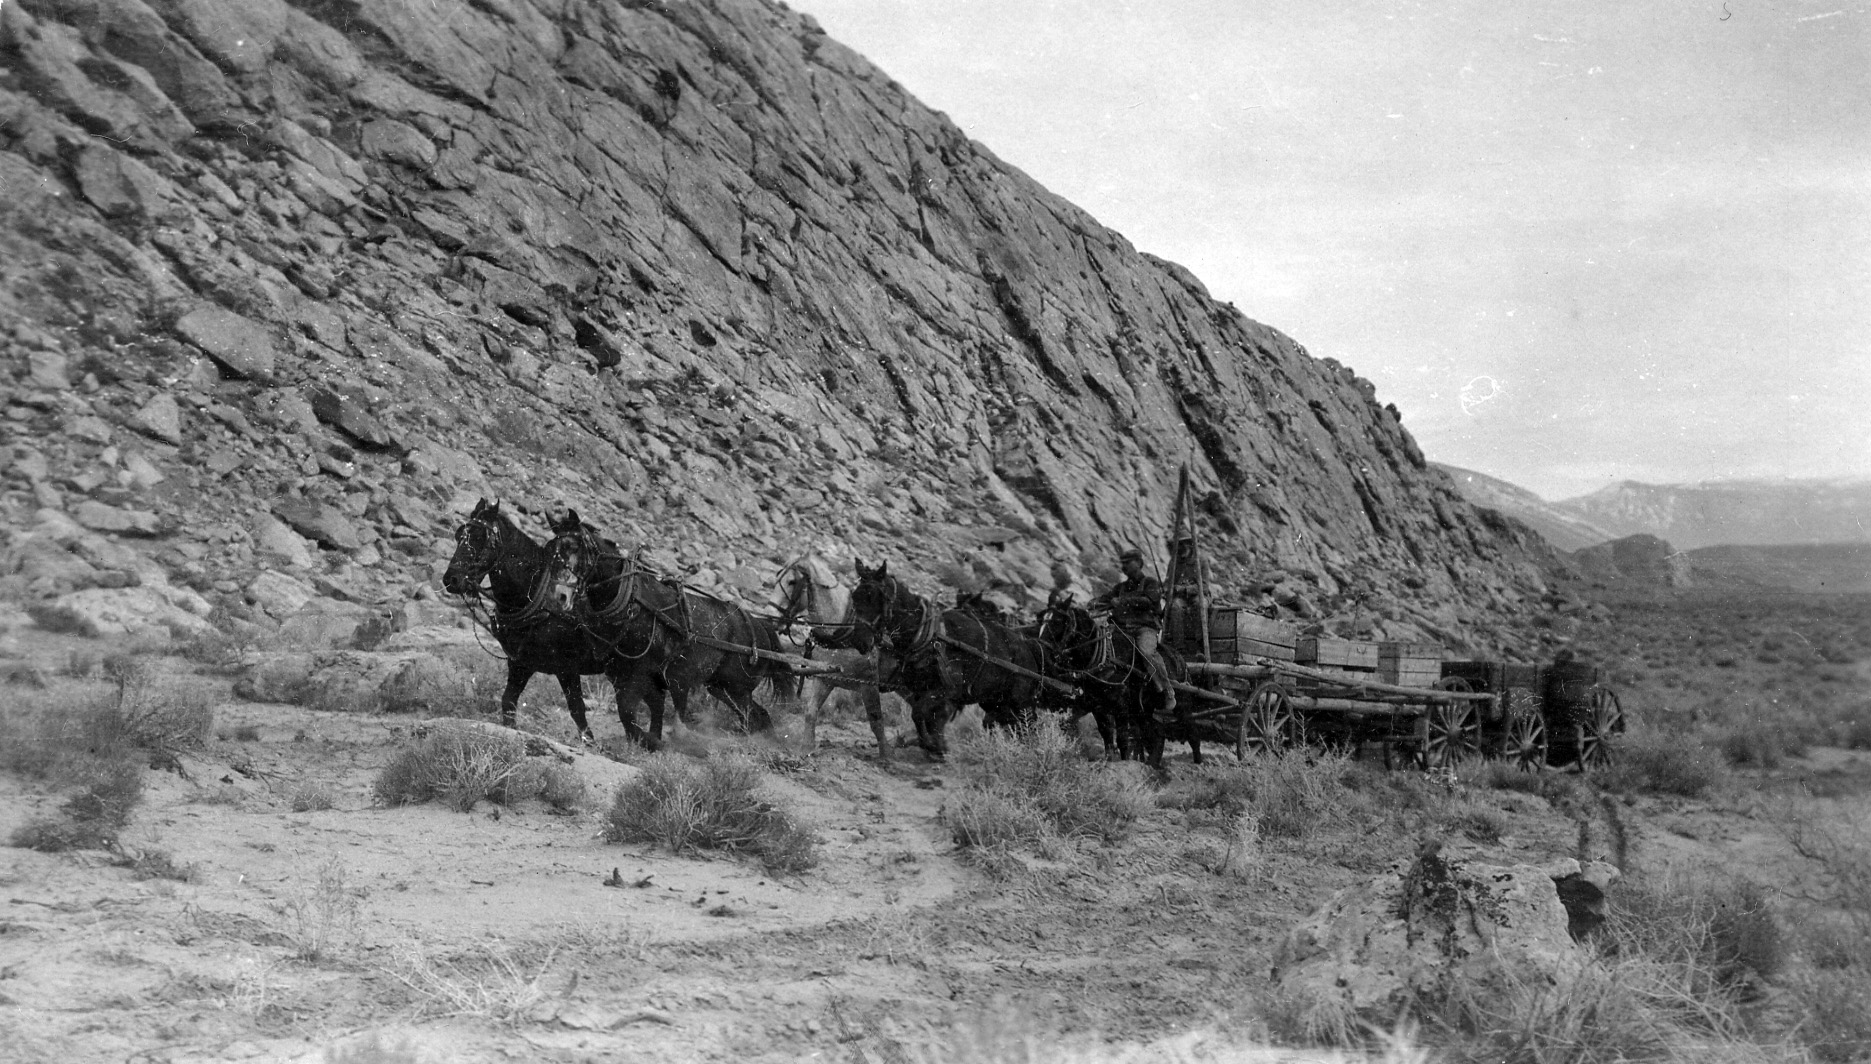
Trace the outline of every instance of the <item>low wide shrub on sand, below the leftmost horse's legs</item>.
[[569, 769], [531, 761], [516, 735], [445, 727], [399, 752], [378, 772], [372, 789], [385, 806], [440, 798], [453, 810], [468, 812], [483, 800], [505, 806], [526, 798], [571, 804], [584, 795], [584, 780]]

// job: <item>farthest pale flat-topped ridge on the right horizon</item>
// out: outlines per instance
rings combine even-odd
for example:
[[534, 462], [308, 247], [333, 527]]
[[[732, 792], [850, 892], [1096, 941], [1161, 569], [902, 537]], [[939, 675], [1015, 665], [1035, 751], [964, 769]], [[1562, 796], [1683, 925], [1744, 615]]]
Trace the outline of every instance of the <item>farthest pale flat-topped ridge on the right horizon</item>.
[[1871, 481], [1624, 481], [1553, 507], [1611, 535], [1658, 535], [1680, 550], [1871, 542]]

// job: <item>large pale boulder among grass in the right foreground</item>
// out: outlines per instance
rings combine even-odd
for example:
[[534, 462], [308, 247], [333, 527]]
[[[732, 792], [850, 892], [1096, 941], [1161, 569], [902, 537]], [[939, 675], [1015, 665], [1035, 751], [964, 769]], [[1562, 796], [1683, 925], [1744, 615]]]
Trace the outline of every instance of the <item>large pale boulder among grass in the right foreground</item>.
[[[1577, 862], [1559, 873], [1581, 911], [1602, 901], [1617, 875], [1600, 862], [1590, 879]], [[1274, 957], [1274, 982], [1388, 1030], [1416, 1004], [1501, 1002], [1517, 987], [1575, 978], [1587, 954], [1568, 931], [1560, 877], [1429, 847], [1407, 870], [1340, 890], [1293, 927]]]

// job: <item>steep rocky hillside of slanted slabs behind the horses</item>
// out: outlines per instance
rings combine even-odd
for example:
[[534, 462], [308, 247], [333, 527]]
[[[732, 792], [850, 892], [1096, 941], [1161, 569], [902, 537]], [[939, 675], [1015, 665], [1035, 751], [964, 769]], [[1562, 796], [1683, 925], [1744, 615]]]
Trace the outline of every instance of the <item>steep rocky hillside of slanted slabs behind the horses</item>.
[[1345, 634], [1545, 595], [1370, 381], [760, 0], [11, 0], [0, 340], [30, 597], [384, 602], [477, 496], [726, 591], [812, 546], [1044, 589], [1160, 554], [1182, 462], [1224, 587]]

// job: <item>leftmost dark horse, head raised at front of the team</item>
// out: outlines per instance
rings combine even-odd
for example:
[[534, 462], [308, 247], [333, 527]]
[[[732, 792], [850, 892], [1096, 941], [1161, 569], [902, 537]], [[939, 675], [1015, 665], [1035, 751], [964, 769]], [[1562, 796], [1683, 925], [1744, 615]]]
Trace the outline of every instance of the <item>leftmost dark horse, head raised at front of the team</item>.
[[[546, 673], [559, 681], [578, 737], [589, 742], [593, 737], [591, 726], [586, 724], [580, 677], [612, 673], [610, 654], [586, 640], [580, 623], [554, 600], [546, 548], [520, 531], [513, 518], [500, 510], [498, 499], [475, 503], [468, 520], [455, 529], [455, 557], [442, 574], [442, 587], [451, 595], [488, 602], [486, 626], [507, 654], [507, 688], [500, 696], [500, 722], [513, 727], [515, 707], [526, 683], [533, 673]], [[616, 679], [612, 673], [614, 684]], [[617, 696], [621, 718], [621, 686]], [[660, 703], [662, 694], [657, 692], [655, 697]]]

